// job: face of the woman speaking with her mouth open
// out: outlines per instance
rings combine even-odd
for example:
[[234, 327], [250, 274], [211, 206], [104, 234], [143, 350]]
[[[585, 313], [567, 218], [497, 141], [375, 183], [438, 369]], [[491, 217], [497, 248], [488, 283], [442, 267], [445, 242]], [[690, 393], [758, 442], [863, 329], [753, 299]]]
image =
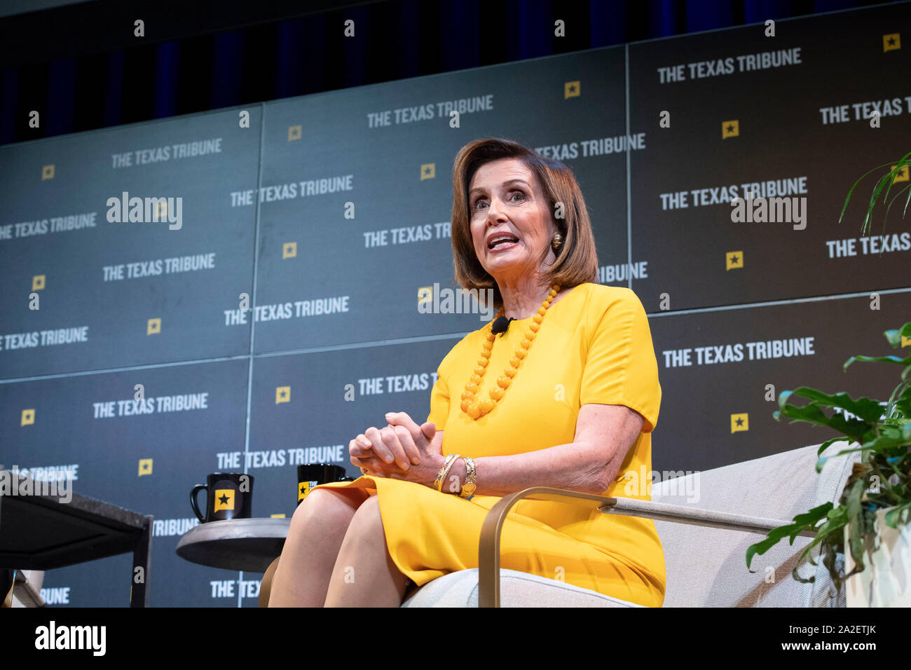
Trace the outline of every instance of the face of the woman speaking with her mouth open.
[[[475, 253], [496, 283], [537, 273], [557, 226], [534, 173], [521, 160], [492, 160], [478, 168], [468, 185], [468, 206]], [[545, 264], [553, 261], [549, 252]]]

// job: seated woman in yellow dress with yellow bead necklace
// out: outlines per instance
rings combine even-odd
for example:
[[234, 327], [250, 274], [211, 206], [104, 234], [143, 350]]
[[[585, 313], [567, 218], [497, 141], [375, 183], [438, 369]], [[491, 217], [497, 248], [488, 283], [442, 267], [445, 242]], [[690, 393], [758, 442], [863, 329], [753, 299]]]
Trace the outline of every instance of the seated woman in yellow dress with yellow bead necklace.
[[[453, 189], [456, 282], [492, 288], [508, 321], [445, 356], [425, 423], [393, 412], [351, 440], [363, 477], [318, 486], [298, 506], [270, 606], [397, 606], [409, 584], [476, 568], [486, 513], [513, 491], [650, 500], [661, 390], [648, 319], [630, 289], [596, 283], [572, 171], [516, 142], [477, 139], [455, 158]], [[650, 519], [522, 500], [501, 538], [502, 568], [663, 603]]]

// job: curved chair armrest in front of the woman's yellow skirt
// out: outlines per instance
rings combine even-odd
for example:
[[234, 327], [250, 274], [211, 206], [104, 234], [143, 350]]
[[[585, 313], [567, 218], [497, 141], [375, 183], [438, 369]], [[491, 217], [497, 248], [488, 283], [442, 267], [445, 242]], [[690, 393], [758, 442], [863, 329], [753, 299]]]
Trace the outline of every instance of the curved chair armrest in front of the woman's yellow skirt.
[[[530, 489], [520, 490], [504, 496], [497, 500], [496, 504], [487, 512], [484, 525], [481, 527], [481, 541], [477, 551], [478, 607], [500, 606], [500, 533], [503, 530], [503, 521], [506, 521], [509, 510], [519, 500], [560, 500], [562, 498], [595, 500], [601, 503], [598, 509], [605, 513], [688, 523], [694, 526], [724, 528], [729, 531], [756, 532], [763, 535], [773, 528], [793, 523], [793, 521], [778, 521], [764, 517], [753, 517], [748, 514], [701, 510], [689, 508], [685, 505], [669, 505], [650, 500], [612, 498], [594, 493], [553, 489], [548, 486], [531, 487]], [[807, 530], [798, 534], [815, 537], [816, 532]]]

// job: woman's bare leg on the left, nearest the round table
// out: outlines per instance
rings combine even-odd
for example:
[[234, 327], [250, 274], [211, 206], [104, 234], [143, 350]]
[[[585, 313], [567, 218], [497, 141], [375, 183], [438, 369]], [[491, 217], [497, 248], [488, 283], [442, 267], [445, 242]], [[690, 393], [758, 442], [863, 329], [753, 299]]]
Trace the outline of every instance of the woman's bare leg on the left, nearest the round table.
[[322, 607], [345, 532], [367, 497], [363, 489], [316, 489], [298, 505], [272, 578], [270, 607]]

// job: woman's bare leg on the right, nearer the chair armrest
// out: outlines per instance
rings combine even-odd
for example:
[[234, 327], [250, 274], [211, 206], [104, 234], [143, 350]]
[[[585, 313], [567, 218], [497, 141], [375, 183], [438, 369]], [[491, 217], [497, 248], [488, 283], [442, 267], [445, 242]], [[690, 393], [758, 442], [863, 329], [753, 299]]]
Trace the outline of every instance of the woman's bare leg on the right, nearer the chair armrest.
[[389, 550], [380, 505], [371, 496], [354, 513], [335, 561], [326, 607], [398, 607], [408, 577], [399, 572]]

